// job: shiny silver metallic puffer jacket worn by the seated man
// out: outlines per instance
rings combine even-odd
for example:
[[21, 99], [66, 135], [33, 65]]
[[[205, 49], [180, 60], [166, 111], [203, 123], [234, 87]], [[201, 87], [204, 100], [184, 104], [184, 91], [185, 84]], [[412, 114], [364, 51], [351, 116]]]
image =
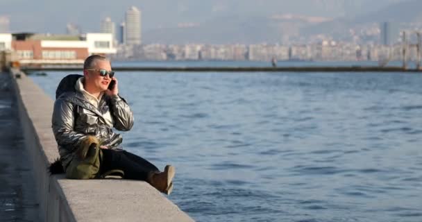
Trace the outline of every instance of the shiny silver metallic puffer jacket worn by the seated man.
[[58, 96], [54, 103], [52, 127], [65, 169], [87, 135], [96, 136], [101, 145], [108, 148], [121, 144], [121, 135], [113, 133], [107, 122], [112, 122], [113, 127], [121, 131], [132, 128], [133, 113], [120, 96], [104, 94], [98, 108], [89, 103], [81, 92], [63, 92]]

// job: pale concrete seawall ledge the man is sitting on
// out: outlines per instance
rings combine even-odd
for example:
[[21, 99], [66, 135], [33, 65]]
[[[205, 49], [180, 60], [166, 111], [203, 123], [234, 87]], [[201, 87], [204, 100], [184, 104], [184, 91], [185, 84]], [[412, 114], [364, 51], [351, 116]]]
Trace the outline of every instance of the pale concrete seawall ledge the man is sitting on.
[[59, 157], [51, 131], [53, 100], [21, 71], [12, 69], [10, 75], [42, 221], [193, 221], [143, 181], [50, 176], [47, 167]]

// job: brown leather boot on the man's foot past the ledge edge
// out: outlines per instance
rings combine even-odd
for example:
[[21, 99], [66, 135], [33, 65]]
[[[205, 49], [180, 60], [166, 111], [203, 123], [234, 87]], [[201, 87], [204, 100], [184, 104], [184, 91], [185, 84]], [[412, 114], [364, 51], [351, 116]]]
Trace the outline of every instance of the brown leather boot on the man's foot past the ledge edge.
[[164, 172], [149, 173], [147, 182], [149, 182], [151, 186], [155, 187], [155, 189], [169, 195], [173, 190], [173, 182], [171, 181], [173, 180], [175, 173], [176, 170], [174, 167], [167, 165], [164, 167]]

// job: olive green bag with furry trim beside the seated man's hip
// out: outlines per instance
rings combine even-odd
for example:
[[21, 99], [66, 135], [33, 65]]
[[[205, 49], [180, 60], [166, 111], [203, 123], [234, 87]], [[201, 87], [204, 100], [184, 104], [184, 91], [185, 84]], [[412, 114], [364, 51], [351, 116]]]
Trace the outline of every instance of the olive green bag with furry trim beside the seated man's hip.
[[94, 136], [83, 139], [81, 145], [76, 149], [74, 158], [66, 169], [66, 178], [86, 180], [93, 178], [123, 178], [124, 172], [118, 169], [99, 174], [103, 152], [100, 142]]

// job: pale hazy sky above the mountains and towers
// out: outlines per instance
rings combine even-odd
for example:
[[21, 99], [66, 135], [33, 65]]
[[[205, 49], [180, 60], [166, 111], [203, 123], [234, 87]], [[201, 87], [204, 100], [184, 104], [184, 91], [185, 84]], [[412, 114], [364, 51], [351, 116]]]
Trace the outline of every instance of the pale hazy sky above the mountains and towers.
[[65, 33], [68, 22], [80, 26], [83, 32], [95, 32], [104, 17], [119, 24], [124, 12], [137, 6], [142, 10], [142, 31], [148, 31], [224, 16], [356, 16], [397, 1], [405, 0], [0, 0], [0, 16], [10, 18], [12, 32]]

